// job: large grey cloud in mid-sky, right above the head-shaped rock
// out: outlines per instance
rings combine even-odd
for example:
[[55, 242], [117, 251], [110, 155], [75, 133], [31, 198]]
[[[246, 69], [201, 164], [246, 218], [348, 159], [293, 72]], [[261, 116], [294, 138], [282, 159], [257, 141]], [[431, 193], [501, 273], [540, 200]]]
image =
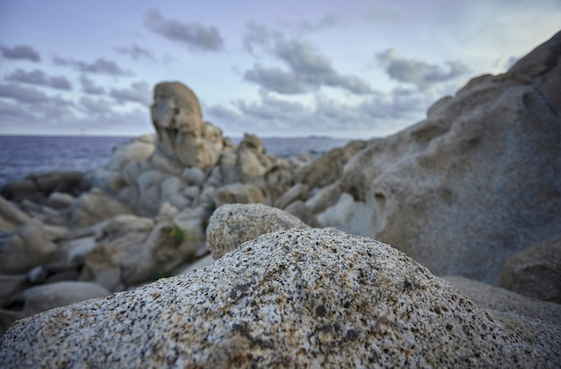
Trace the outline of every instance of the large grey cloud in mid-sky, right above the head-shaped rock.
[[272, 54], [287, 64], [289, 70], [255, 64], [253, 69], [246, 71], [244, 79], [260, 85], [264, 90], [280, 94], [310, 92], [322, 86], [348, 90], [357, 95], [372, 92], [366, 81], [338, 73], [332, 67], [331, 59], [315, 51], [308, 42], [276, 39]]

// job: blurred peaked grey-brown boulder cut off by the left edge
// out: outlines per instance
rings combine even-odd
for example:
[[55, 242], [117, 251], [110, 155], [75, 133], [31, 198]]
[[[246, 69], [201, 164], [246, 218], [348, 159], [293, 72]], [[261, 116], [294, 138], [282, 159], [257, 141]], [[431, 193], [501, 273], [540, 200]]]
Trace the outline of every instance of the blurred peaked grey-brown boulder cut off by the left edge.
[[0, 245], [0, 274], [25, 273], [51, 261], [58, 251], [37, 219], [30, 219], [0, 243], [4, 244]]

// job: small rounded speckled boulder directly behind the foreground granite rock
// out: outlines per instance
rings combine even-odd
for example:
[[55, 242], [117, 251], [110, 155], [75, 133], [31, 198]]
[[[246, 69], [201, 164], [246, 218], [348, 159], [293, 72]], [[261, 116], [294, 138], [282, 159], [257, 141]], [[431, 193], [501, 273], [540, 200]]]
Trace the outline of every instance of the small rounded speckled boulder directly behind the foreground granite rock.
[[309, 226], [297, 217], [270, 206], [228, 204], [212, 213], [206, 228], [206, 241], [216, 260], [238, 245], [265, 233], [306, 227]]

